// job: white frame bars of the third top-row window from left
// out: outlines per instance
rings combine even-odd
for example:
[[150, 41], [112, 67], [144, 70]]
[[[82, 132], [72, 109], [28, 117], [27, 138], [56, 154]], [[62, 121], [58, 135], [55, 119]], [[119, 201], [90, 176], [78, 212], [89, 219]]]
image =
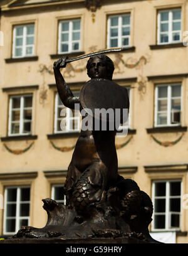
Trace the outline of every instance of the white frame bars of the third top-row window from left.
[[[129, 25], [122, 25], [122, 17], [123, 16], [130, 16], [130, 24]], [[107, 21], [107, 24], [108, 24], [108, 33], [107, 33], [107, 47], [108, 48], [111, 48], [112, 46], [110, 45], [110, 39], [112, 38], [110, 36], [110, 18], [115, 18], [115, 17], [118, 17], [118, 36], [115, 36], [115, 38], [118, 39], [118, 45], [117, 47], [130, 47], [130, 35], [128, 36], [122, 36], [122, 27], [129, 27], [131, 29], [131, 14], [130, 13], [127, 13], [127, 14], [119, 14], [119, 15], [110, 15], [108, 16], [108, 21]], [[115, 27], [114, 27], [115, 28]], [[128, 38], [128, 45], [122, 45], [122, 38]]]

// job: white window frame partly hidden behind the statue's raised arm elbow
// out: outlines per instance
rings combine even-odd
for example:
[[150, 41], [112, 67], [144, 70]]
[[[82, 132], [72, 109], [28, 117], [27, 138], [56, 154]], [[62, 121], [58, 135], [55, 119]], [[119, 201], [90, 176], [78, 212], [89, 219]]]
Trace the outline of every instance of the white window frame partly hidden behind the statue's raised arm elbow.
[[[73, 92], [74, 93], [74, 92]], [[58, 105], [58, 92], [56, 92], [56, 96], [55, 96], [55, 124], [54, 124], [54, 132], [55, 134], [58, 134], [58, 133], [71, 133], [71, 132], [80, 132], [80, 124], [81, 124], [81, 121], [80, 121], [80, 114], [78, 117], [73, 117], [73, 110], [69, 109], [68, 107], [65, 107], [63, 105], [63, 103], [61, 105]], [[65, 107], [65, 110], [66, 110], [66, 131], [58, 131], [58, 120], [62, 120], [63, 117], [58, 117], [58, 108], [61, 107], [63, 108], [63, 106]], [[73, 120], [78, 120], [78, 129], [74, 129], [74, 130], [71, 130], [70, 129], [70, 126], [71, 126], [71, 121]]]

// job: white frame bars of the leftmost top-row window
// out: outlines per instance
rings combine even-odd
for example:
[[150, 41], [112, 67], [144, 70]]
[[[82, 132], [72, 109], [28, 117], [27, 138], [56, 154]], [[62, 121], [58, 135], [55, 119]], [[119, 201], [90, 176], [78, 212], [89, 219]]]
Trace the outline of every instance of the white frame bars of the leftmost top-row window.
[[[33, 48], [33, 51], [31, 54], [26, 54], [26, 37], [27, 37], [27, 33], [26, 33], [26, 27], [27, 26], [31, 26], [33, 25], [34, 26], [34, 33], [32, 34], [33, 36], [33, 45], [27, 45], [29, 47], [32, 47]], [[23, 45], [22, 47], [19, 47], [19, 48], [22, 48], [22, 55], [21, 56], [16, 56], [15, 53], [16, 53], [16, 28], [18, 27], [23, 27]], [[15, 24], [13, 26], [13, 50], [12, 50], [12, 56], [13, 58], [25, 58], [25, 57], [30, 57], [30, 56], [34, 56], [34, 43], [35, 43], [35, 24], [34, 23], [27, 23], [27, 24]]]

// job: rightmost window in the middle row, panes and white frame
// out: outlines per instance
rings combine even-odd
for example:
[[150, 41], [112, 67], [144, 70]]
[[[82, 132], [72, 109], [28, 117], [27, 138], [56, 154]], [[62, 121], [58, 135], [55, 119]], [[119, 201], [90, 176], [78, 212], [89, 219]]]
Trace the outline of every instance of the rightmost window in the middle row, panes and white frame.
[[155, 87], [155, 126], [180, 125], [181, 84]]

